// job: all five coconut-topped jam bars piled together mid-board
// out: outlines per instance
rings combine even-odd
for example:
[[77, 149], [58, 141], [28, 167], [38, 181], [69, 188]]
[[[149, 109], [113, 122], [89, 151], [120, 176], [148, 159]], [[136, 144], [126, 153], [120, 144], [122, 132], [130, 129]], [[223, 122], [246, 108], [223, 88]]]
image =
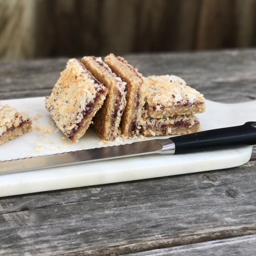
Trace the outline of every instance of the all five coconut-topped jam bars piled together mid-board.
[[204, 111], [202, 94], [182, 79], [146, 79], [114, 54], [104, 61], [93, 56], [69, 60], [45, 103], [71, 141], [78, 141], [91, 123], [104, 140], [192, 133], [199, 130], [193, 114]]

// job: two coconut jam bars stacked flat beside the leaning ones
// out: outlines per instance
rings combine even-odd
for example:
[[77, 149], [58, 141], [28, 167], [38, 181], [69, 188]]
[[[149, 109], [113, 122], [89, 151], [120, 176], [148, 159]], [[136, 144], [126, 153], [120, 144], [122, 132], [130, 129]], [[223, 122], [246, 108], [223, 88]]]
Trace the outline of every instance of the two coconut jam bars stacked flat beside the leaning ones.
[[145, 106], [141, 115], [144, 136], [198, 132], [194, 115], [205, 110], [203, 95], [174, 75], [149, 76], [145, 83]]

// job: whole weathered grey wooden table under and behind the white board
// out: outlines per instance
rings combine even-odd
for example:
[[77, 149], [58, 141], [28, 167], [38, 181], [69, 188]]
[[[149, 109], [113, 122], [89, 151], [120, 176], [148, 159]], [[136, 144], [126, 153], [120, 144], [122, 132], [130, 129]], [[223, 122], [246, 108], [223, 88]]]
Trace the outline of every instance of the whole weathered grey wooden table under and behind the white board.
[[[126, 58], [209, 100], [256, 99], [256, 50]], [[66, 61], [0, 63], [0, 100], [48, 95]], [[0, 198], [0, 254], [256, 255], [256, 150], [237, 168]]]

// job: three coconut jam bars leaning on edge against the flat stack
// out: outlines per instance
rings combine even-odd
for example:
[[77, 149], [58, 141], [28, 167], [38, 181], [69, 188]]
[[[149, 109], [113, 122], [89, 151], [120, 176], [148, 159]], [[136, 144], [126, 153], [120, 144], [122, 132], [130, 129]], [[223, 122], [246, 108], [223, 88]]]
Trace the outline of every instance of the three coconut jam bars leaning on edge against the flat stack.
[[114, 54], [104, 61], [93, 56], [69, 60], [45, 100], [57, 127], [71, 141], [78, 141], [91, 123], [104, 140], [139, 133], [144, 78]]

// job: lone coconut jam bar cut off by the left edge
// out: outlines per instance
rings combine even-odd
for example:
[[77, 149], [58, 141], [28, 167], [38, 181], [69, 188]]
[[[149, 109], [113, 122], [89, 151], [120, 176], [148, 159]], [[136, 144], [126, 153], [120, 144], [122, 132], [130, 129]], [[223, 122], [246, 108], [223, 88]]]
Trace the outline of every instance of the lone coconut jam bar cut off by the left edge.
[[31, 131], [31, 119], [16, 108], [0, 104], [0, 144]]

